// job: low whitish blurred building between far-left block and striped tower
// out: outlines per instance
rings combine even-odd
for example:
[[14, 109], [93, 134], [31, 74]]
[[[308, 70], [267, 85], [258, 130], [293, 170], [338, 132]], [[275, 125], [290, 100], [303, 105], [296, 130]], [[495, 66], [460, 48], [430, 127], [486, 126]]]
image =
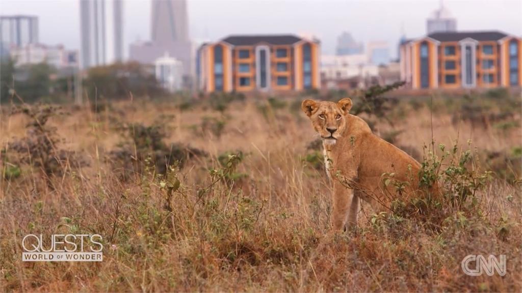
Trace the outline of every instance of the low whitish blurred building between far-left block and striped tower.
[[12, 46], [10, 56], [16, 60], [16, 67], [42, 62], [46, 62], [56, 69], [78, 66], [78, 52], [66, 50], [63, 45], [27, 44], [21, 47]]

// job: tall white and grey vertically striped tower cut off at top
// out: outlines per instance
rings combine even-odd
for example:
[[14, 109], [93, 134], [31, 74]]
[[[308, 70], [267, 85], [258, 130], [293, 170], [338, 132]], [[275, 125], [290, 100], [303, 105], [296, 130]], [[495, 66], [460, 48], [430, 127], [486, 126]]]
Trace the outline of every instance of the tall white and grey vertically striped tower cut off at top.
[[[123, 59], [122, 2], [80, 0], [81, 67], [101, 66]], [[108, 8], [108, 9], [106, 9]], [[107, 10], [112, 8], [113, 18]], [[108, 28], [114, 29], [108, 36]], [[110, 48], [113, 50], [110, 50]]]

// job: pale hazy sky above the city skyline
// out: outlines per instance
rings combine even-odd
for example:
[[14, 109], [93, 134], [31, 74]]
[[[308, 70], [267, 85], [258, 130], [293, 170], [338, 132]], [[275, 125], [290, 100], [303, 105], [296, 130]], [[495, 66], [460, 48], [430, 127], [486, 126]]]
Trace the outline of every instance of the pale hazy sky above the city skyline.
[[[128, 44], [150, 35], [150, 1], [124, 3], [125, 55]], [[522, 35], [522, 0], [444, 1], [458, 30], [501, 30]], [[335, 52], [337, 36], [385, 40], [396, 54], [401, 27], [408, 38], [425, 33], [425, 20], [440, 1], [219, 1], [189, 0], [189, 30], [195, 41], [233, 33], [312, 33], [325, 54]], [[79, 48], [79, 0], [0, 0], [0, 14], [40, 18], [40, 42]]]

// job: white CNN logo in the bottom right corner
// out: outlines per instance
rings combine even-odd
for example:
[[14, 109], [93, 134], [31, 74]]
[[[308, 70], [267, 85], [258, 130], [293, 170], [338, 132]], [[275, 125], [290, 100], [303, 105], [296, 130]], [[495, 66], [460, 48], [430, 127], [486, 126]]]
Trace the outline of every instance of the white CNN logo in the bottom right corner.
[[[471, 265], [472, 262], [475, 262], [474, 267]], [[462, 260], [461, 266], [462, 271], [468, 276], [480, 276], [485, 272], [491, 277], [495, 274], [494, 271], [504, 276], [506, 274], [506, 255], [501, 254], [499, 260], [495, 255], [489, 255], [486, 259], [481, 254], [470, 254]]]

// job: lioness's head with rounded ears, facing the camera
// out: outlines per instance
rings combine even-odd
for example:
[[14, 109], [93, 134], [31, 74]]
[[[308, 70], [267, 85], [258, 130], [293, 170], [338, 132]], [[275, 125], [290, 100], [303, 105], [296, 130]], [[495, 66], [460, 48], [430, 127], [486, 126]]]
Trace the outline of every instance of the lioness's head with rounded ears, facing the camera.
[[346, 115], [352, 107], [352, 100], [345, 97], [337, 103], [304, 100], [303, 112], [310, 117], [312, 125], [326, 144], [335, 144], [346, 128]]

